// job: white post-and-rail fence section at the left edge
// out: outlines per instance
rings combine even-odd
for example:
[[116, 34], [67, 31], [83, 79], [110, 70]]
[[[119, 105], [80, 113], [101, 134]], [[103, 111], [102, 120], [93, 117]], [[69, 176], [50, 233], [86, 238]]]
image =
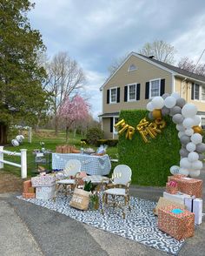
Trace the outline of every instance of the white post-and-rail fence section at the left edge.
[[[22, 179], [27, 178], [27, 149], [21, 149], [20, 153], [18, 152], [9, 152], [4, 151], [3, 146], [0, 146], [0, 169], [3, 169], [3, 164], [7, 165], [13, 165], [21, 168], [21, 177]], [[9, 156], [17, 156], [21, 158], [21, 165], [17, 163], [13, 163], [7, 160], [3, 160], [3, 154], [9, 155]]]

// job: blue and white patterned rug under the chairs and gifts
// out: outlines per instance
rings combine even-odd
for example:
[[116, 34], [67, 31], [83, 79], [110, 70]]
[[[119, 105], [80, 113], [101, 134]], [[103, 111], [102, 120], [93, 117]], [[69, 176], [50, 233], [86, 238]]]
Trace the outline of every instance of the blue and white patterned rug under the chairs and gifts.
[[[18, 196], [18, 199], [23, 199]], [[63, 195], [53, 199], [23, 199], [27, 202], [41, 205], [50, 210], [60, 212], [72, 219], [81, 221], [87, 225], [95, 226], [107, 232], [114, 233], [126, 239], [131, 239], [142, 243], [145, 246], [151, 246], [170, 254], [178, 254], [181, 250], [184, 240], [177, 241], [168, 234], [161, 232], [157, 228], [157, 218], [153, 214], [155, 202], [131, 197], [131, 212], [126, 211], [126, 219], [122, 219], [122, 211], [114, 209], [105, 209], [105, 214], [101, 211], [80, 211], [69, 206], [70, 197]]]

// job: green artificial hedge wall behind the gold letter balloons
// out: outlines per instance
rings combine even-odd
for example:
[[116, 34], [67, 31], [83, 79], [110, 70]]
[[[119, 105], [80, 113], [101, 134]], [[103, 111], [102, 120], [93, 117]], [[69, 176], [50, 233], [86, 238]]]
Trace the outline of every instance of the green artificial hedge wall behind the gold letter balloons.
[[[148, 111], [121, 111], [123, 118], [129, 125], [136, 127], [142, 118], [148, 118]], [[125, 132], [119, 135], [118, 154], [119, 164], [129, 165], [132, 169], [132, 184], [164, 186], [172, 165], [179, 165], [181, 148], [175, 124], [166, 117], [166, 126], [156, 138], [150, 138], [145, 143], [138, 131], [131, 140], [125, 138]]]

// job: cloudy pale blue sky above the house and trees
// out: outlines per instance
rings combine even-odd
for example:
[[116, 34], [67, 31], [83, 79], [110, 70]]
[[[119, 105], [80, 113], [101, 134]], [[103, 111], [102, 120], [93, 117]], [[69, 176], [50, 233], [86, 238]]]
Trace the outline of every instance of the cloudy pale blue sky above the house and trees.
[[[36, 0], [31, 26], [40, 30], [48, 57], [67, 51], [83, 68], [94, 118], [102, 113], [99, 88], [115, 59], [143, 44], [163, 40], [175, 47], [175, 62], [195, 62], [205, 49], [204, 0]], [[205, 54], [202, 56], [205, 62]], [[176, 64], [175, 63], [175, 64]]]

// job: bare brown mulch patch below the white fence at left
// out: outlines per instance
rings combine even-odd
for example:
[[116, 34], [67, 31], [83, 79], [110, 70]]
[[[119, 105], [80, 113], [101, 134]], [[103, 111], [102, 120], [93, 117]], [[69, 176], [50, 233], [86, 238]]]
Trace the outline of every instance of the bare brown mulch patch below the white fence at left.
[[9, 172], [0, 171], [0, 193], [22, 192], [23, 179]]

